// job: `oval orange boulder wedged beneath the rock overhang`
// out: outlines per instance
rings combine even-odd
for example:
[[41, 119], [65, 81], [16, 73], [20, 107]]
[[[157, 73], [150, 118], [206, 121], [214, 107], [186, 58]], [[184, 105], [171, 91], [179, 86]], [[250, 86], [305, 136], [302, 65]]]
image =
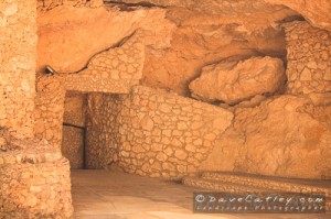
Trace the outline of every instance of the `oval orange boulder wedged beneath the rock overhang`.
[[254, 57], [239, 63], [206, 66], [190, 84], [192, 96], [206, 101], [238, 103], [257, 95], [274, 94], [286, 79], [281, 59]]

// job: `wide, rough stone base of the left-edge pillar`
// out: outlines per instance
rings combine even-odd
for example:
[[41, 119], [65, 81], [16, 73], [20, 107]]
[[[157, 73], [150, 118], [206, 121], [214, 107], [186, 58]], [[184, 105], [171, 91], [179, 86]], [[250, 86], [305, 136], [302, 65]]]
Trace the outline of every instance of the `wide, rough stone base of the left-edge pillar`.
[[21, 149], [0, 152], [0, 218], [70, 218], [68, 161], [44, 141], [15, 146]]

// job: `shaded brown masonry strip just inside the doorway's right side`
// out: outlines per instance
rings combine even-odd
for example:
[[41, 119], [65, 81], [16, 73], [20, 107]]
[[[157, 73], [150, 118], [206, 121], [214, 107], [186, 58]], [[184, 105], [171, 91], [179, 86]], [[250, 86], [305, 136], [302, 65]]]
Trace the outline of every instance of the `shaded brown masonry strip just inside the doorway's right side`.
[[86, 167], [116, 168], [120, 149], [120, 113], [128, 95], [90, 94], [86, 123]]

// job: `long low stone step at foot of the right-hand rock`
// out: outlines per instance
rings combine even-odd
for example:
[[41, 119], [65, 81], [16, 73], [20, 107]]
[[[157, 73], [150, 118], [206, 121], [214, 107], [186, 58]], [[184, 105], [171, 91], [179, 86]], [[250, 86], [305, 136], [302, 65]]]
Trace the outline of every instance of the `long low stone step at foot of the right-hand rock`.
[[295, 179], [226, 172], [206, 172], [202, 174], [201, 178], [206, 180], [216, 180], [218, 183], [254, 186], [266, 190], [324, 193], [327, 197], [331, 197], [331, 180]]

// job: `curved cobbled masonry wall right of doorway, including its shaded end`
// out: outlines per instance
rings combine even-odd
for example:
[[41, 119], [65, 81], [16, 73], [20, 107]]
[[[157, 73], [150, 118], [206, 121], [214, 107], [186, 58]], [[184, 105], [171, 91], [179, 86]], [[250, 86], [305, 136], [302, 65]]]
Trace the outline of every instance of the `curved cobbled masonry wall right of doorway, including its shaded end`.
[[[87, 166], [152, 177], [195, 174], [232, 112], [146, 87], [89, 96]], [[109, 165], [109, 166], [108, 166]]]

